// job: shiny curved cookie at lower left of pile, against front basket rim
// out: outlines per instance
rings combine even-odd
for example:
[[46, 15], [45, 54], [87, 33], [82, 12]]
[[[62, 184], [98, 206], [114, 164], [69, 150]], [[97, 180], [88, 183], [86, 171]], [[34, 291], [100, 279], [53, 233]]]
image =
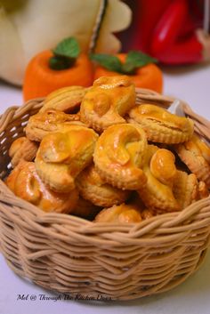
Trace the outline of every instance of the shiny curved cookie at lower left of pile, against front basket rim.
[[41, 181], [32, 162], [21, 160], [5, 183], [17, 197], [40, 207], [44, 212], [70, 213], [77, 205], [77, 189], [69, 193], [53, 192]]

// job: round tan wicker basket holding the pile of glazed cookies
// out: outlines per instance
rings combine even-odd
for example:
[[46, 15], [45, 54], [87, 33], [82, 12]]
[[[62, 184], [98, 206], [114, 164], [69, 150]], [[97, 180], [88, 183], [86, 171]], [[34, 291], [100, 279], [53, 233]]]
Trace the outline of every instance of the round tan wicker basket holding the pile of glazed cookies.
[[[174, 99], [137, 89], [137, 102], [167, 108]], [[210, 139], [210, 123], [183, 104], [198, 133]], [[3, 180], [10, 171], [8, 149], [23, 135], [28, 117], [42, 100], [7, 109], [0, 117]], [[0, 243], [8, 265], [39, 286], [72, 296], [112, 300], [158, 294], [179, 285], [198, 269], [209, 246], [210, 198], [179, 213], [137, 224], [93, 223], [44, 213], [15, 197], [0, 180]]]

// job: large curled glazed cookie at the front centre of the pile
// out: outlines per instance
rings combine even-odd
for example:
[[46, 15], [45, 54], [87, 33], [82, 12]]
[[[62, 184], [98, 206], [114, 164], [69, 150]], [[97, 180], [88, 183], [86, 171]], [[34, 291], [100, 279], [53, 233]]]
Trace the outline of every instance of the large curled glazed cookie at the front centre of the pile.
[[138, 125], [112, 125], [96, 143], [93, 160], [101, 178], [118, 189], [140, 189], [146, 183], [141, 167], [146, 134]]

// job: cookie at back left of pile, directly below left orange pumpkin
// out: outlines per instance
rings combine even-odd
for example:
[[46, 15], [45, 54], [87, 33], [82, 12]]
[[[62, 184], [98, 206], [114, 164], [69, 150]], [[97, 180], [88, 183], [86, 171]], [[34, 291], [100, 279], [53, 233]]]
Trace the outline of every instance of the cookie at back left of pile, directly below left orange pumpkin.
[[44, 99], [44, 106], [39, 111], [44, 112], [46, 109], [57, 109], [66, 113], [78, 111], [86, 92], [87, 88], [82, 86], [60, 88]]

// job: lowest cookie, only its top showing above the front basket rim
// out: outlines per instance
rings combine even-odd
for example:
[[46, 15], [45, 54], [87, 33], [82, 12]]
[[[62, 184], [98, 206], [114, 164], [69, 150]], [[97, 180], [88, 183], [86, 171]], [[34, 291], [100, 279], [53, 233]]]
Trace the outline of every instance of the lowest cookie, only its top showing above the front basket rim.
[[94, 219], [95, 222], [133, 223], [141, 222], [141, 213], [133, 205], [114, 205], [103, 209]]

